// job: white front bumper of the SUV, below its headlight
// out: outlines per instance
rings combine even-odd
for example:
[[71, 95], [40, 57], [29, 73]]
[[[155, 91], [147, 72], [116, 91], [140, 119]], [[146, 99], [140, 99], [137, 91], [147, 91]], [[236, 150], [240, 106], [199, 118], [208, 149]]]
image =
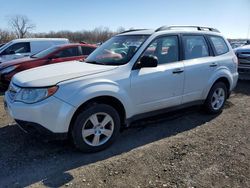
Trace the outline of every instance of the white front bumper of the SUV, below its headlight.
[[6, 111], [19, 125], [32, 124], [33, 127], [43, 127], [51, 133], [67, 133], [76, 110], [54, 96], [35, 104], [25, 104], [12, 102], [6, 92], [4, 101]]

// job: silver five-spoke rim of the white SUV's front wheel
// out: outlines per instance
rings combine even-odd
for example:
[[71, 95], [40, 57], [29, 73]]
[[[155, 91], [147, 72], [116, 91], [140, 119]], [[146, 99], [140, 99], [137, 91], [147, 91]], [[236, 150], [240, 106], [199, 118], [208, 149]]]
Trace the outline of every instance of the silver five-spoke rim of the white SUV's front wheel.
[[114, 131], [114, 120], [107, 113], [92, 114], [84, 123], [82, 137], [90, 146], [105, 144]]

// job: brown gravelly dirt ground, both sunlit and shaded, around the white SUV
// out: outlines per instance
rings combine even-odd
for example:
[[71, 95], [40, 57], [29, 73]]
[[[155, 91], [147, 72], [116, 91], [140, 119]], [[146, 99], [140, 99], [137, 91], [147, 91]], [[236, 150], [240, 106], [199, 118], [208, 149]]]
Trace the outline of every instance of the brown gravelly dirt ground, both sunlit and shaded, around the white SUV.
[[250, 82], [220, 115], [195, 107], [140, 121], [94, 154], [26, 135], [0, 101], [0, 187], [250, 187]]

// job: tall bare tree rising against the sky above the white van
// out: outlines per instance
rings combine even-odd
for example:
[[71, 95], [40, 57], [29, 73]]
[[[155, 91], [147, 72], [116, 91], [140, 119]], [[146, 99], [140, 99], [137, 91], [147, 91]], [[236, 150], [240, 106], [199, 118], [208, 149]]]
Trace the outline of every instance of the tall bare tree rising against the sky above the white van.
[[9, 18], [9, 25], [17, 38], [24, 38], [27, 33], [35, 29], [35, 25], [25, 15], [15, 15]]

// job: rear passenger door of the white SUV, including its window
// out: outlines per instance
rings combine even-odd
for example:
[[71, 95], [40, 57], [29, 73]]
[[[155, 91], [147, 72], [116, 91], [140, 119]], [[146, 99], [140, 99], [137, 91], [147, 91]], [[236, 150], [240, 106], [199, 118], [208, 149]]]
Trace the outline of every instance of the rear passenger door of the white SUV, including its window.
[[202, 100], [204, 88], [215, 70], [217, 63], [207, 38], [204, 35], [182, 35], [185, 82], [183, 103]]

